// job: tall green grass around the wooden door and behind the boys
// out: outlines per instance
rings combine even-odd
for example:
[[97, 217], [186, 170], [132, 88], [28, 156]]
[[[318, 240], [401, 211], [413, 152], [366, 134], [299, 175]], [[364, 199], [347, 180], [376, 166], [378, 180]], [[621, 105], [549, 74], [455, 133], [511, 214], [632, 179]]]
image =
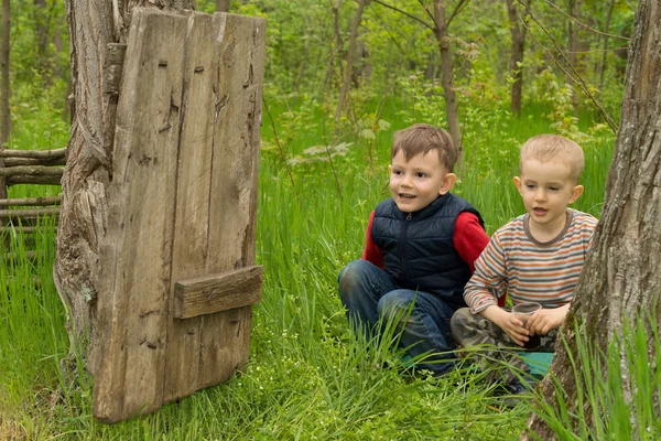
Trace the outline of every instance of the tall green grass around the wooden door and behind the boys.
[[[279, 117], [288, 157], [333, 142], [316, 111], [302, 111], [297, 121]], [[466, 168], [456, 187], [483, 213], [488, 233], [522, 213], [511, 182], [518, 146], [537, 132], [551, 131], [539, 115], [494, 123], [494, 131], [466, 130]], [[45, 250], [42, 260], [33, 263], [23, 256], [14, 263], [3, 261], [0, 439], [516, 438], [530, 405], [499, 410], [489, 387], [463, 370], [441, 380], [401, 374], [388, 341], [375, 348], [348, 329], [336, 293], [337, 273], [360, 256], [369, 212], [388, 197], [389, 140], [402, 126], [400, 121], [378, 133], [371, 146], [373, 168], [366, 160], [370, 143], [353, 136], [342, 139], [354, 143], [351, 151], [334, 158], [337, 180], [327, 162], [292, 166], [296, 196], [264, 115], [262, 135], [269, 149], [262, 151], [260, 166], [257, 260], [266, 272], [263, 300], [254, 308], [250, 363], [228, 383], [151, 416], [98, 423], [91, 417], [91, 378], [80, 362], [68, 362], [78, 376], [62, 373], [68, 336], [51, 277], [52, 233], [36, 238]], [[584, 146], [586, 191], [577, 208], [599, 214], [613, 143], [613, 137], [594, 137]], [[11, 237], [10, 244], [24, 255], [20, 237]], [[34, 277], [41, 279], [39, 288]]]

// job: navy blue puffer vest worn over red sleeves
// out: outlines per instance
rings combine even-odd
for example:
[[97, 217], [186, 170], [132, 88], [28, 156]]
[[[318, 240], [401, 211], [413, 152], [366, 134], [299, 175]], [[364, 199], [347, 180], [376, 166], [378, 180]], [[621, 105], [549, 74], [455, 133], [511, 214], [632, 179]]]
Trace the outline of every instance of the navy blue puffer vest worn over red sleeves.
[[383, 250], [383, 269], [399, 288], [425, 291], [448, 306], [466, 306], [464, 286], [470, 267], [453, 244], [459, 213], [469, 212], [484, 220], [466, 200], [451, 193], [415, 213], [401, 212], [392, 198], [377, 205], [371, 237]]

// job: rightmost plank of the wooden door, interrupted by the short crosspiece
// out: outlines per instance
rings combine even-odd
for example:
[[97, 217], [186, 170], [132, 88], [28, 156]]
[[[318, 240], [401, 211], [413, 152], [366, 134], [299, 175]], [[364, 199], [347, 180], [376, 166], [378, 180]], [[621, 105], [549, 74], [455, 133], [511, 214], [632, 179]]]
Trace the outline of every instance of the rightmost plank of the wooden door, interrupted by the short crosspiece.
[[[254, 265], [259, 128], [266, 21], [214, 14], [219, 42], [207, 272]], [[204, 315], [201, 387], [225, 381], [248, 363], [251, 306]]]

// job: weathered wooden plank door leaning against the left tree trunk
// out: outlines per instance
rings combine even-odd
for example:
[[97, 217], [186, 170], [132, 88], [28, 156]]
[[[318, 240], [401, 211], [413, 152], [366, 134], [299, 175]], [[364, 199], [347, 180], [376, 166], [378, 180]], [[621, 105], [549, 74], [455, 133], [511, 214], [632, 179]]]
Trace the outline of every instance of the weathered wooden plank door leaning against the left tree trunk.
[[115, 422], [248, 361], [266, 22], [136, 9], [119, 90], [94, 415]]

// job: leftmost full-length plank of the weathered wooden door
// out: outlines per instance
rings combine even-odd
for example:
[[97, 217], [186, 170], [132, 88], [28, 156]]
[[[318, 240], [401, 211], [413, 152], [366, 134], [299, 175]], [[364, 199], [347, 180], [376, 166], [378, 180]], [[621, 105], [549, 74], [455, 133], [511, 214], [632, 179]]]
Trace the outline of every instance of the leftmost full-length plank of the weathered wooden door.
[[[116, 422], [163, 404], [182, 72], [187, 20], [136, 8], [117, 109], [99, 295], [94, 415]], [[167, 60], [167, 66], [160, 61]]]

